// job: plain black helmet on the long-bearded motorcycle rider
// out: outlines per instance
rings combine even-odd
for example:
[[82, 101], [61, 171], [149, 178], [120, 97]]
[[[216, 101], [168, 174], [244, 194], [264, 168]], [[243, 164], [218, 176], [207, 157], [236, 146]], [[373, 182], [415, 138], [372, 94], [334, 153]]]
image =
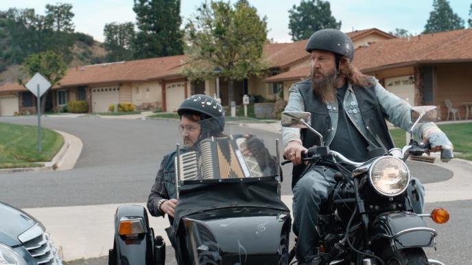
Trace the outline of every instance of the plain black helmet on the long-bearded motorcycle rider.
[[311, 53], [312, 50], [331, 51], [346, 56], [351, 62], [354, 59], [353, 41], [338, 29], [320, 29], [312, 34], [305, 46], [305, 51]]

